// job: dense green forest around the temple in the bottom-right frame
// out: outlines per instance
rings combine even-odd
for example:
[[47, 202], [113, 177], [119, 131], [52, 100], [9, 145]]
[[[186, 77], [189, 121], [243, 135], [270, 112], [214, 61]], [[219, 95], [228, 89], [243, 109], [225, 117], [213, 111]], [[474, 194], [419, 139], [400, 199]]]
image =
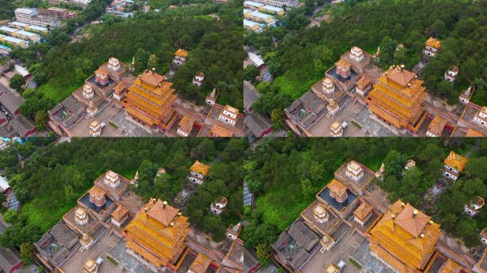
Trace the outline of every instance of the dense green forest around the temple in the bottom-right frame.
[[[442, 176], [442, 162], [451, 150], [471, 151], [461, 178], [441, 195], [433, 209], [426, 209], [423, 196]], [[426, 138], [262, 139], [248, 156], [246, 181], [256, 194], [255, 208], [246, 206], [243, 240], [249, 247], [275, 242], [280, 232], [313, 202], [315, 194], [345, 161], [355, 159], [372, 171], [384, 162], [384, 181], [373, 181], [388, 193], [430, 213], [442, 228], [464, 240], [469, 247], [480, 244], [479, 232], [487, 225], [487, 210], [474, 218], [463, 212], [473, 196], [487, 196], [487, 140]], [[402, 176], [408, 159], [417, 168]]]

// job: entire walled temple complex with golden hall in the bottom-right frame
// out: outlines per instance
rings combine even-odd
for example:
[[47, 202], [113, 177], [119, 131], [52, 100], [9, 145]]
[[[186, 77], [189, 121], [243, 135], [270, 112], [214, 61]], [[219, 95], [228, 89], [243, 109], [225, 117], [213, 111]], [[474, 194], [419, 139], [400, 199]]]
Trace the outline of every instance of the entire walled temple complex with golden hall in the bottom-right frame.
[[382, 164], [373, 172], [354, 160], [340, 166], [316, 200], [271, 245], [273, 259], [288, 272], [300, 273], [340, 272], [345, 257], [345, 269], [358, 268], [350, 272], [470, 272], [470, 262], [440, 245], [439, 224], [402, 200], [388, 204], [367, 187], [386, 168]]

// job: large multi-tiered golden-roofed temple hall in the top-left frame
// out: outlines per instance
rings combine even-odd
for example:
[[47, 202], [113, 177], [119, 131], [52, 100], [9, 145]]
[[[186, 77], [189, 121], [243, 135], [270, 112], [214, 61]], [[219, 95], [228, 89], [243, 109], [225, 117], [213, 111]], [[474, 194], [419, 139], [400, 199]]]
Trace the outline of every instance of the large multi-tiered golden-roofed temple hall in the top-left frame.
[[166, 131], [175, 116], [171, 105], [176, 95], [171, 85], [154, 70], [142, 73], [134, 80], [123, 102], [127, 114], [140, 124]]

